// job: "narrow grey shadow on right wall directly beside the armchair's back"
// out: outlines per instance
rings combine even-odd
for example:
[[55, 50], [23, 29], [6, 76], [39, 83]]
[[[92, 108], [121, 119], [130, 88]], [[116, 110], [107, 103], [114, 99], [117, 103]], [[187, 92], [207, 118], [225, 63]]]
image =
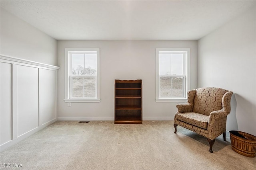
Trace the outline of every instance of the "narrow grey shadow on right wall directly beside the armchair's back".
[[227, 117], [226, 131], [238, 130], [238, 123], [236, 119], [236, 94], [233, 93], [231, 97], [231, 111]]

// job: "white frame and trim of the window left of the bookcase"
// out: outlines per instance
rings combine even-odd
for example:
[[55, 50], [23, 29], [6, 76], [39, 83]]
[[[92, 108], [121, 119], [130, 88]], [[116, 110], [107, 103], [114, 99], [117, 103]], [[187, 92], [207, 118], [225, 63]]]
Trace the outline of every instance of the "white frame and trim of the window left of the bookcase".
[[[97, 53], [97, 74], [86, 75], [96, 77], [96, 98], [72, 98], [70, 87], [72, 77], [84, 77], [80, 75], [70, 75], [71, 60], [70, 53], [96, 51]], [[85, 103], [85, 102], [100, 102], [100, 49], [99, 48], [65, 48], [65, 99], [66, 103]]]

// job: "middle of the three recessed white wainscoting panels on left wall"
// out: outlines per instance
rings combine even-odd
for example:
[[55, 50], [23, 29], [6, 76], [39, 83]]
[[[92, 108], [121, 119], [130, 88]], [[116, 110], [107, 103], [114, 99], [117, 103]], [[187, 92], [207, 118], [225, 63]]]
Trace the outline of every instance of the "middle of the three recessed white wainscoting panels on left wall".
[[17, 67], [17, 135], [38, 127], [38, 68]]

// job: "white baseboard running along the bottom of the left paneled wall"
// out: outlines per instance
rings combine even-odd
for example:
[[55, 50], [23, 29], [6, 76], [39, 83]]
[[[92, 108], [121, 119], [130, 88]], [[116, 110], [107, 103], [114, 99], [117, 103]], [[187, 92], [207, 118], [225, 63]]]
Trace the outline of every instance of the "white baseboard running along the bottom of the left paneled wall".
[[18, 136], [15, 139], [12, 139], [11, 141], [8, 141], [8, 142], [0, 145], [0, 152], [6, 150], [7, 148], [11, 147], [12, 145], [15, 145], [16, 143], [22, 141], [23, 139], [25, 139], [26, 137], [29, 137], [30, 135], [36, 133], [37, 131], [44, 129], [46, 126], [54, 123], [55, 121], [57, 121], [56, 118], [52, 119], [51, 121], [48, 121], [47, 123], [44, 123], [43, 125], [41, 125], [39, 127], [36, 127], [35, 129], [32, 129], [31, 131], [24, 133], [23, 135]]

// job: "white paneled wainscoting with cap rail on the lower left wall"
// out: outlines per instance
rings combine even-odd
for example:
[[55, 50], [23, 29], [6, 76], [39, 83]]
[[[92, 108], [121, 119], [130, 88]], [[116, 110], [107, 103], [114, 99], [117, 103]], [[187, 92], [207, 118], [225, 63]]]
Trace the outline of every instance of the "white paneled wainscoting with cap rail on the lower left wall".
[[57, 66], [0, 55], [0, 151], [57, 121]]

